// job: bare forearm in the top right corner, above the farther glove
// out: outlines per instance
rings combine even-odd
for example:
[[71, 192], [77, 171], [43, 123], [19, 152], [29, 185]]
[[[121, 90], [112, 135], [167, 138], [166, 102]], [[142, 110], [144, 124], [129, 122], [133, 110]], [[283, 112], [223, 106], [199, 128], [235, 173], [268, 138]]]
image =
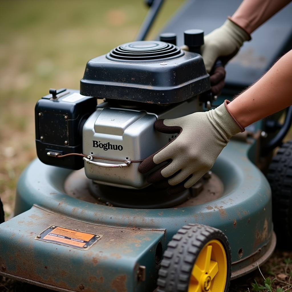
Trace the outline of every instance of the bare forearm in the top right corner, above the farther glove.
[[290, 1], [244, 0], [230, 19], [251, 34]]

